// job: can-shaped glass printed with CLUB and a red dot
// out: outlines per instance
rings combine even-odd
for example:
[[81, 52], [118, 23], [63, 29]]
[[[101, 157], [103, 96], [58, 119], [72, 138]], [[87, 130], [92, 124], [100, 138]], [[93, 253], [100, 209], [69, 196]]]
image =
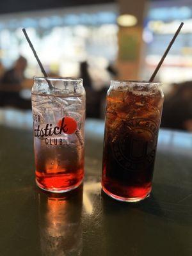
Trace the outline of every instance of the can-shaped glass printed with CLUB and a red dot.
[[58, 193], [77, 188], [84, 176], [83, 80], [35, 77], [31, 99], [36, 184]]

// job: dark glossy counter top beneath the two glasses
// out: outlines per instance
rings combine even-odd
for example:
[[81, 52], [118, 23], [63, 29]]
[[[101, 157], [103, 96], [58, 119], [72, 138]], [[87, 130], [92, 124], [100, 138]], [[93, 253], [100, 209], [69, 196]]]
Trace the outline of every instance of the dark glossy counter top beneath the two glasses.
[[100, 188], [104, 122], [86, 120], [84, 183], [36, 188], [31, 113], [0, 111], [1, 256], [192, 255], [192, 134], [159, 132], [152, 194], [118, 202]]

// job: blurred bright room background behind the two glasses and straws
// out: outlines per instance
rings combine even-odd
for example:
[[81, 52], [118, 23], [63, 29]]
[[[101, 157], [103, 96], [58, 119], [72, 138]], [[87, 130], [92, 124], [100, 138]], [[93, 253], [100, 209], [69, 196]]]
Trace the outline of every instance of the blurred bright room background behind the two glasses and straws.
[[110, 79], [149, 79], [181, 21], [156, 81], [165, 95], [162, 127], [190, 132], [191, 0], [1, 1], [0, 122], [28, 125], [33, 76], [42, 76], [22, 28], [49, 76], [83, 77], [86, 115], [102, 119]]

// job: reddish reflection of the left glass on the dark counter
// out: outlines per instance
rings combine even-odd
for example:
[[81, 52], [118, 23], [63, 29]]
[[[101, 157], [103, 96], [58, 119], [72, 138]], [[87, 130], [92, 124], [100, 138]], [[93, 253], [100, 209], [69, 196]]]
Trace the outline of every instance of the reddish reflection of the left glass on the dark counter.
[[42, 255], [81, 255], [82, 200], [83, 186], [65, 195], [38, 192]]

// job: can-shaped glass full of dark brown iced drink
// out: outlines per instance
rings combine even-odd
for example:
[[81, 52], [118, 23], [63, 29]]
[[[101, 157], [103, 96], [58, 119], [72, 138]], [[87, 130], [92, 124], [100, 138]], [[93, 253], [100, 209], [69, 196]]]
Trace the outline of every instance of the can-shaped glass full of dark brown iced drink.
[[109, 196], [137, 202], [150, 195], [162, 108], [160, 83], [111, 81], [102, 165]]

